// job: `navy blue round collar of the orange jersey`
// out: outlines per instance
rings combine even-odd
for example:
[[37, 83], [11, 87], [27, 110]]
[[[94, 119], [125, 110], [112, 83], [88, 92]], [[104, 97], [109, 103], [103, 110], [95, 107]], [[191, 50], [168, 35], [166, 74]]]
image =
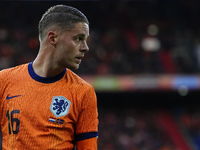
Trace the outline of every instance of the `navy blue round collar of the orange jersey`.
[[60, 74], [58, 74], [54, 77], [45, 78], [45, 77], [41, 77], [41, 76], [37, 75], [34, 72], [32, 64], [33, 64], [33, 62], [29, 63], [29, 65], [28, 65], [28, 72], [29, 72], [30, 76], [34, 80], [36, 80], [38, 82], [42, 82], [42, 83], [54, 83], [54, 82], [60, 80], [65, 75], [65, 72], [66, 72], [66, 69], [64, 69]]

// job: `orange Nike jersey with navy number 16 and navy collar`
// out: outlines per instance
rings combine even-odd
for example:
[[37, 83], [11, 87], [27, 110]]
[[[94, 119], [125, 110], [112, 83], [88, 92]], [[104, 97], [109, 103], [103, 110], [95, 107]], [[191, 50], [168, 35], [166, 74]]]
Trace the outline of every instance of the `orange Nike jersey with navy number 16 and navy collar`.
[[51, 78], [32, 63], [2, 70], [0, 121], [3, 150], [97, 149], [94, 88], [69, 69]]

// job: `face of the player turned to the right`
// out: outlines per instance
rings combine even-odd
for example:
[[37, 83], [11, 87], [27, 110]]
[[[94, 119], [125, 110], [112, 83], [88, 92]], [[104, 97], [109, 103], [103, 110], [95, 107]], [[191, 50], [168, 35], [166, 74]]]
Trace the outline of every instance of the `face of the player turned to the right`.
[[60, 33], [56, 44], [56, 61], [60, 67], [76, 70], [81, 59], [89, 51], [86, 40], [89, 26], [84, 22], [76, 23], [70, 31]]

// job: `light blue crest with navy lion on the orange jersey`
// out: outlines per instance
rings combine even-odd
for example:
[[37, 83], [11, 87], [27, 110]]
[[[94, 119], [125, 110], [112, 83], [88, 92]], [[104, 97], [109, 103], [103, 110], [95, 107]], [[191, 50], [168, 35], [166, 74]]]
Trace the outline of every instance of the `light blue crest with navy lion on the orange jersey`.
[[71, 102], [64, 96], [55, 96], [52, 99], [50, 110], [56, 117], [68, 114]]

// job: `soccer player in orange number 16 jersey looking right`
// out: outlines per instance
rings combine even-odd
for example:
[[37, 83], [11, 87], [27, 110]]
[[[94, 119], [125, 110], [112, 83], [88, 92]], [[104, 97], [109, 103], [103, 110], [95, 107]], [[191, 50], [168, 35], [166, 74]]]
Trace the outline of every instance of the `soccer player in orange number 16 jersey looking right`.
[[0, 72], [3, 150], [96, 150], [94, 88], [71, 70], [89, 48], [89, 22], [74, 7], [49, 8], [33, 62]]

